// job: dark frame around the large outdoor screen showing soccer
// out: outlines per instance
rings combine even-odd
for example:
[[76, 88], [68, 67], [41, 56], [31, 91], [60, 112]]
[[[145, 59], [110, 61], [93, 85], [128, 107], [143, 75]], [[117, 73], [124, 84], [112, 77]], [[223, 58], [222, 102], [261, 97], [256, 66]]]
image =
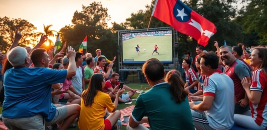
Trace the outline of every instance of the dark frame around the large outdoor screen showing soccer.
[[173, 58], [174, 58], [174, 49], [173, 49], [173, 46], [174, 46], [174, 29], [162, 29], [162, 30], [148, 30], [148, 31], [133, 31], [133, 32], [123, 32], [121, 33], [121, 57], [122, 57], [122, 64], [144, 64], [146, 61], [137, 61], [137, 62], [134, 62], [134, 61], [124, 61], [123, 59], [123, 37], [122, 35], [123, 34], [128, 34], [128, 33], [142, 33], [142, 32], [153, 32], [153, 31], [170, 31], [171, 30], [171, 54], [172, 54], [172, 60], [171, 61], [160, 61], [161, 63], [164, 63], [164, 64], [173, 64]]

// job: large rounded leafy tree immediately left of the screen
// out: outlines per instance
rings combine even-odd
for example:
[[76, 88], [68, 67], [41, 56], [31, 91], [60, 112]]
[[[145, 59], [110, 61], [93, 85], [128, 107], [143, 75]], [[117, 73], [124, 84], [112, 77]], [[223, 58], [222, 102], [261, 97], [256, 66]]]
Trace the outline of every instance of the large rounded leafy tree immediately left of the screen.
[[[89, 6], [82, 6], [81, 12], [75, 11], [72, 19], [73, 25], [61, 28], [62, 41], [78, 50], [85, 36], [87, 36], [87, 51], [95, 56], [95, 50], [101, 49], [102, 53], [109, 59], [116, 55], [116, 28], [109, 29], [107, 21], [110, 15], [107, 8], [101, 2], [93, 2]], [[113, 23], [117, 25], [117, 23]], [[114, 33], [112, 33], [114, 32]]]

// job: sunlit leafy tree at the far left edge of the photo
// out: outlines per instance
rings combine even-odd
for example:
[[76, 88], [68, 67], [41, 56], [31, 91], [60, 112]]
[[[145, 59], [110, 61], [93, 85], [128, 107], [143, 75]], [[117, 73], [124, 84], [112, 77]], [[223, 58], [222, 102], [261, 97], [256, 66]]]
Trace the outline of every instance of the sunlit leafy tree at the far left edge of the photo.
[[13, 43], [17, 28], [19, 28], [23, 34], [18, 45], [26, 46], [33, 44], [35, 41], [34, 30], [36, 27], [25, 19], [10, 19], [9, 17], [5, 16], [3, 18], [0, 17], [0, 35], [3, 36], [3, 39], [8, 43], [7, 47]]

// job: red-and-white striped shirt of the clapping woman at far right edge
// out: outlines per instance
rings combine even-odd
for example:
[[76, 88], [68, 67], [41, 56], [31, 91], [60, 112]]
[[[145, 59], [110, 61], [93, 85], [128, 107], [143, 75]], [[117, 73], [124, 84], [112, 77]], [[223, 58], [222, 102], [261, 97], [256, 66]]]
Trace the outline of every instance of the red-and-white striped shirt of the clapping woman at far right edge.
[[267, 127], [267, 75], [262, 69], [257, 69], [252, 73], [251, 76], [252, 84], [250, 86], [250, 91], [261, 91], [260, 101], [257, 105], [253, 105], [249, 102], [251, 108], [251, 117], [254, 119], [255, 123], [262, 127]]

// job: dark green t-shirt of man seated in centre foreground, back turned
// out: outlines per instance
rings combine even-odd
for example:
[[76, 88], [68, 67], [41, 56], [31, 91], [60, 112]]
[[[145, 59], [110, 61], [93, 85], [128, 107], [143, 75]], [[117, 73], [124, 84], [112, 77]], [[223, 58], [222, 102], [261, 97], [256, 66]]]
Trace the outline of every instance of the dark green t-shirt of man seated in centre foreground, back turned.
[[139, 123], [144, 116], [148, 117], [150, 130], [195, 130], [187, 97], [176, 103], [166, 82], [138, 96], [132, 118]]

